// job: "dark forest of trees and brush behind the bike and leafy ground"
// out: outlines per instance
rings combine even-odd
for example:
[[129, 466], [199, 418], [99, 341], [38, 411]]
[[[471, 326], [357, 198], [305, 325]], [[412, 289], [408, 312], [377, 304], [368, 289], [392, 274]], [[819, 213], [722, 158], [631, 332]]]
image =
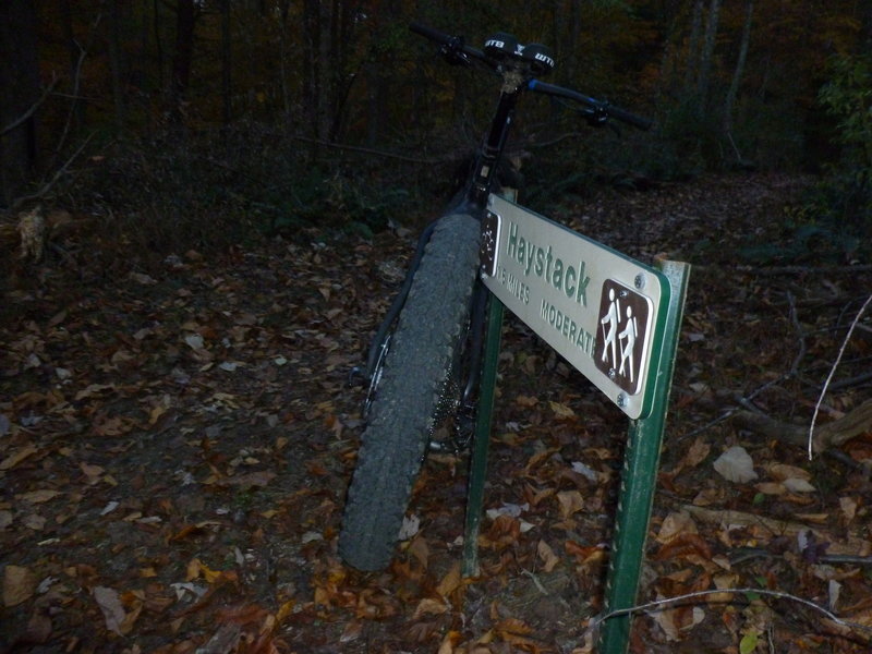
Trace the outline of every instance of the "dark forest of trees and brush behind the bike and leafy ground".
[[528, 97], [510, 147], [531, 207], [602, 183], [804, 172], [820, 181], [791, 220], [868, 235], [864, 0], [7, 0], [2, 203], [109, 216], [155, 251], [433, 215], [496, 88], [412, 20], [550, 45], [549, 81], [656, 120], [616, 135]]

